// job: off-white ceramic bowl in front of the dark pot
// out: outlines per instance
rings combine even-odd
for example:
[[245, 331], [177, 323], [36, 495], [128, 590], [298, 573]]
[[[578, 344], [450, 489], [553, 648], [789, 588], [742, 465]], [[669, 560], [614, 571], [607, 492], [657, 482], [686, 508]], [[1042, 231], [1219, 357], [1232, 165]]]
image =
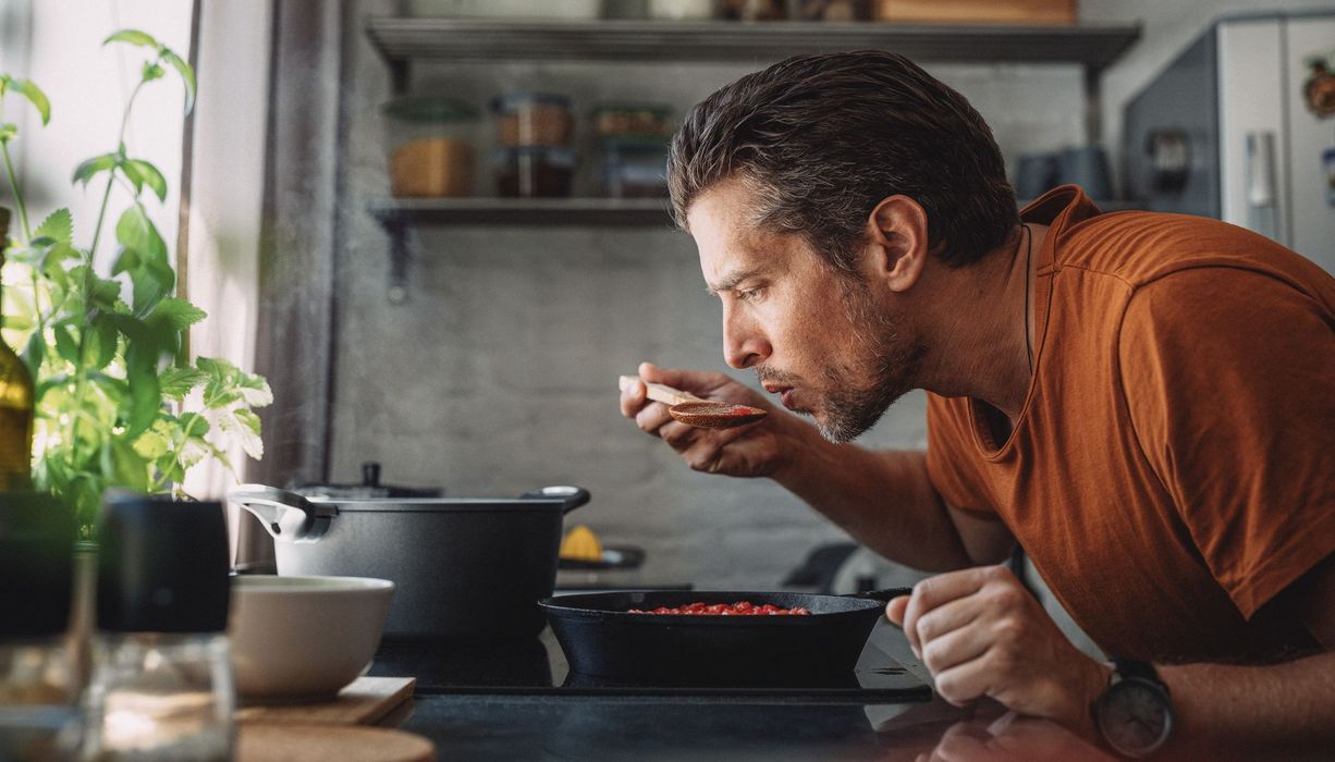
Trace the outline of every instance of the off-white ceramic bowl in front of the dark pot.
[[392, 595], [388, 579], [234, 577], [227, 635], [236, 693], [332, 697], [375, 657]]

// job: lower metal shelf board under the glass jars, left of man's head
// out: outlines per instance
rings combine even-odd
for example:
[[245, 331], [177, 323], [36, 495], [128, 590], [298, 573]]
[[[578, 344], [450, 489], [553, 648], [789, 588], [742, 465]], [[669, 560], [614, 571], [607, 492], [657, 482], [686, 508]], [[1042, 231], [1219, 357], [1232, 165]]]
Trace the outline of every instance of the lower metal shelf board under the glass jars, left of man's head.
[[376, 199], [367, 211], [383, 226], [672, 226], [668, 199]]

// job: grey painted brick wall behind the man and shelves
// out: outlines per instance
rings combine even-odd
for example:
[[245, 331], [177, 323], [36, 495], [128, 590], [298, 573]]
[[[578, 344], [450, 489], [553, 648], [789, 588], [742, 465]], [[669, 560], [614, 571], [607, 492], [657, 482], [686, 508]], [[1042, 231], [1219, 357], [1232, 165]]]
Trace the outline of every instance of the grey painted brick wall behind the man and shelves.
[[[1219, 7], [1207, 0], [1164, 5], [1177, 11], [1113, 0], [1087, 0], [1084, 9], [1087, 17], [1109, 23], [1173, 15], [1171, 39], [1147, 27], [1145, 44], [1157, 51], [1185, 43]], [[391, 9], [390, 3], [359, 5], [364, 13]], [[726, 370], [718, 304], [704, 292], [685, 234], [423, 228], [411, 300], [387, 302], [388, 240], [364, 206], [388, 191], [386, 135], [376, 115], [390, 95], [388, 76], [359, 23], [352, 27], [332, 476], [350, 480], [360, 462], [380, 460], [390, 482], [445, 486], [455, 495], [582, 484], [594, 499], [571, 520], [590, 524], [607, 543], [643, 546], [645, 583], [774, 586], [812, 547], [842, 538], [773, 483], [694, 474], [619, 416], [615, 376], [634, 372], [641, 359]], [[1145, 79], [1143, 69], [1161, 57], [1136, 57], [1133, 71], [1109, 72], [1108, 96], [1124, 99]], [[682, 112], [750, 69], [425, 65], [415, 89], [479, 105], [507, 89], [550, 89], [569, 93], [581, 113], [593, 100], [617, 99], [663, 100]], [[975, 103], [1012, 161], [1025, 151], [1060, 148], [1083, 136], [1073, 116], [1081, 109], [1075, 67], [930, 71]], [[1115, 123], [1120, 104], [1108, 107], [1105, 119]], [[489, 128], [482, 125], [483, 147]], [[483, 192], [486, 179], [483, 172]], [[581, 177], [585, 192], [587, 180]], [[749, 375], [738, 378], [753, 383]], [[864, 443], [921, 447], [921, 395], [894, 406]]]

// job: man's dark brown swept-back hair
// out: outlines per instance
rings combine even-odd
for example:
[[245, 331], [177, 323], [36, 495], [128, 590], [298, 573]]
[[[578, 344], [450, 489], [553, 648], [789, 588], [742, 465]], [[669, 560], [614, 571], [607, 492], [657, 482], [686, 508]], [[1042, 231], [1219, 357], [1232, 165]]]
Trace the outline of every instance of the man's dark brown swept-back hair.
[[686, 115], [668, 161], [673, 215], [721, 180], [754, 194], [758, 227], [802, 235], [856, 271], [866, 219], [902, 194], [926, 211], [928, 246], [951, 266], [1001, 247], [1019, 224], [992, 131], [913, 61], [862, 51], [796, 56], [718, 89]]

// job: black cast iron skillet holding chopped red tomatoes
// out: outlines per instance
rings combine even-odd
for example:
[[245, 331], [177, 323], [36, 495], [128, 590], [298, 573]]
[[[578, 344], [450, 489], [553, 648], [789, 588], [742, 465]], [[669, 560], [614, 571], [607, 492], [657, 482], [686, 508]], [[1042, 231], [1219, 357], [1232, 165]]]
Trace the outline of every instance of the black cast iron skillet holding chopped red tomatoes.
[[[876, 621], [908, 587], [857, 595], [750, 591], [626, 591], [545, 598], [538, 605], [573, 673], [653, 685], [776, 685], [852, 674]], [[810, 615], [630, 614], [693, 602], [750, 601]]]

